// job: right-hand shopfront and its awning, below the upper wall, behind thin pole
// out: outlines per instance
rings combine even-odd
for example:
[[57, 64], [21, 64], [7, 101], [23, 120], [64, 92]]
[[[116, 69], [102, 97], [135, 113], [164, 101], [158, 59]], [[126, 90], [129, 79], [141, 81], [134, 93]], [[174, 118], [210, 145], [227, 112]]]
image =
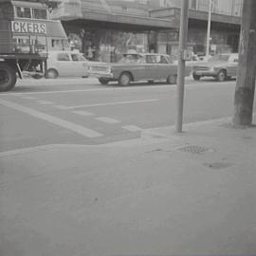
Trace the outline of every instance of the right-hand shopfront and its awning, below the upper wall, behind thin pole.
[[[150, 11], [152, 17], [161, 17], [173, 21], [179, 27], [180, 9], [167, 8]], [[237, 52], [240, 34], [240, 17], [212, 13], [210, 29], [210, 53]], [[204, 55], [206, 52], [208, 13], [206, 11], [189, 11], [189, 27], [187, 46], [196, 54]], [[164, 39], [165, 37], [165, 39]], [[176, 36], [163, 35], [159, 37], [158, 44], [168, 53], [177, 55], [178, 33]]]

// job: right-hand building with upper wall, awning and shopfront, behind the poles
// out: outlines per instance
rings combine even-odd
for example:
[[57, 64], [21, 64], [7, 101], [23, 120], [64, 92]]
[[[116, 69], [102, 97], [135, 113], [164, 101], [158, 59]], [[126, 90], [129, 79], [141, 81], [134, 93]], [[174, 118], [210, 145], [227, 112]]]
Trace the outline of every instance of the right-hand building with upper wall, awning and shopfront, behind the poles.
[[[160, 0], [158, 3], [159, 8], [151, 10], [151, 16], [166, 19], [177, 17], [179, 20], [180, 1]], [[206, 52], [209, 4], [208, 0], [190, 1], [188, 46], [199, 55]], [[211, 54], [238, 51], [242, 7], [243, 0], [211, 0]], [[159, 40], [158, 44], [176, 54], [177, 41], [161, 42]]]

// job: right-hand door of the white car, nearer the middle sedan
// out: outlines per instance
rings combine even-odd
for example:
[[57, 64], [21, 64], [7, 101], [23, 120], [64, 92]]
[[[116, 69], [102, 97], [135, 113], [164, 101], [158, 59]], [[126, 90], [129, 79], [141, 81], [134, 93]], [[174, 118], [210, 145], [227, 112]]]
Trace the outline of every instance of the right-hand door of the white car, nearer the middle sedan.
[[72, 69], [74, 70], [73, 76], [76, 77], [87, 77], [88, 76], [88, 64], [82, 54], [80, 53], [70, 53]]

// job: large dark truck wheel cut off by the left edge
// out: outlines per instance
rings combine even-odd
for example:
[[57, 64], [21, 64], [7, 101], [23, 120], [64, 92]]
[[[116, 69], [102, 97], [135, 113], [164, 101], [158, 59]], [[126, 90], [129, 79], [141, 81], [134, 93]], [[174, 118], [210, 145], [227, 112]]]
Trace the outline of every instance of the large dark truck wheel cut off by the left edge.
[[0, 63], [0, 92], [11, 90], [17, 81], [16, 71], [9, 64]]

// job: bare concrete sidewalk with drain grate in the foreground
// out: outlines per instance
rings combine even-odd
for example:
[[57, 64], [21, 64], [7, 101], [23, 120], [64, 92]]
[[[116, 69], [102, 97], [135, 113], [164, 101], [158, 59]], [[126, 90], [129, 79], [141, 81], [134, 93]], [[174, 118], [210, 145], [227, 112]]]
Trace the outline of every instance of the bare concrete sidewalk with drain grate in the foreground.
[[0, 155], [0, 255], [256, 255], [256, 128], [229, 119]]

